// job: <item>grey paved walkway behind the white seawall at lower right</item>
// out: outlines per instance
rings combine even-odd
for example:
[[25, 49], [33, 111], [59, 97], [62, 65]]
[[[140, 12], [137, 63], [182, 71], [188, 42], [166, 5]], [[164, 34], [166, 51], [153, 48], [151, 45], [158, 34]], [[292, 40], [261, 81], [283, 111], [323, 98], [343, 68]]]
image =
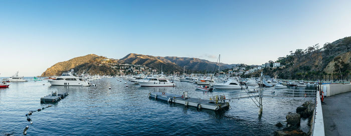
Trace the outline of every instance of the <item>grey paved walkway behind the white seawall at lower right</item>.
[[351, 135], [351, 92], [326, 97], [324, 102], [325, 135]]

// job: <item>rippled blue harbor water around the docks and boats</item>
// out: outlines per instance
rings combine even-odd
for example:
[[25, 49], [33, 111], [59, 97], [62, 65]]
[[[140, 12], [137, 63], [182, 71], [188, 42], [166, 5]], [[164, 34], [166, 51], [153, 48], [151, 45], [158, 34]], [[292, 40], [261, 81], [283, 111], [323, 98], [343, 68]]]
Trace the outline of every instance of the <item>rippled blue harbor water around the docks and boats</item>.
[[[176, 87], [140, 87], [133, 82], [125, 87], [124, 82], [103, 78], [90, 87], [51, 86], [46, 80], [12, 82], [9, 88], [0, 89], [0, 134], [23, 135], [29, 125], [27, 135], [273, 135], [279, 129], [274, 124], [285, 125], [286, 113], [295, 112], [305, 101], [264, 97], [261, 117], [250, 98], [233, 100], [231, 108], [222, 112], [198, 111], [196, 107], [149, 99], [147, 94], [189, 91], [191, 97], [208, 98], [209, 94], [231, 92], [205, 93], [189, 82], [176, 82]], [[69, 95], [52, 107], [34, 112], [30, 124], [25, 114], [49, 105], [41, 104], [40, 98], [53, 90]], [[307, 120], [302, 120], [305, 132], [306, 124]]]

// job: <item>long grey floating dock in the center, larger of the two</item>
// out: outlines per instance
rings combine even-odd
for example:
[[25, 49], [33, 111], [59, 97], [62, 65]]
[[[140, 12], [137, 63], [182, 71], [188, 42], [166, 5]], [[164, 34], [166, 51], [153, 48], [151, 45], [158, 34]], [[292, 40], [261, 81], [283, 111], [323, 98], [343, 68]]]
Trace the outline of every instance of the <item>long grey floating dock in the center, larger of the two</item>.
[[220, 110], [229, 108], [229, 100], [226, 102], [225, 97], [221, 99], [218, 98], [218, 100], [207, 100], [201, 98], [182, 97], [182, 95], [165, 92], [150, 92], [148, 96], [150, 98], [179, 103], [185, 106], [195, 106], [199, 109], [205, 108], [211, 110]]

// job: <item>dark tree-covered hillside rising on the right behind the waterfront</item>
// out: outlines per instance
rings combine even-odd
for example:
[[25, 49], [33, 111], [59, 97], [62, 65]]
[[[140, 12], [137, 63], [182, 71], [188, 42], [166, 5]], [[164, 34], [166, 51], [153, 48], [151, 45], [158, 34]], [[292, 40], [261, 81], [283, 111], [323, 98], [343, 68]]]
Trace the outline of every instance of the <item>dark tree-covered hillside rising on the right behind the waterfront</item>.
[[322, 47], [315, 44], [296, 49], [278, 62], [285, 67], [264, 68], [264, 74], [284, 79], [345, 78], [351, 71], [351, 36], [325, 43]]

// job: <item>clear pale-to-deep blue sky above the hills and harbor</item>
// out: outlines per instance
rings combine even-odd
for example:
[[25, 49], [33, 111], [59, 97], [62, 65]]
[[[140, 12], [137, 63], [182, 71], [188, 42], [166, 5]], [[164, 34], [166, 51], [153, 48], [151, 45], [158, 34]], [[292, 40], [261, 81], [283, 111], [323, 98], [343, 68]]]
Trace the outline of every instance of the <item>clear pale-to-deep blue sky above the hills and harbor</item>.
[[262, 64], [351, 36], [351, 1], [0, 0], [1, 76], [89, 53]]

